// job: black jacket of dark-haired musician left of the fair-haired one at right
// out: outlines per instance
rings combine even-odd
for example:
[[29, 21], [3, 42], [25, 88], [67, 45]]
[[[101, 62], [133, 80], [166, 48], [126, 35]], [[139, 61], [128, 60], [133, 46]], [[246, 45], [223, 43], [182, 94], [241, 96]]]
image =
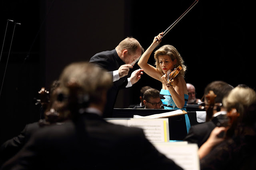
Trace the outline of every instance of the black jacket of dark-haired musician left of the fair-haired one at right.
[[188, 135], [184, 138], [184, 140], [188, 141], [188, 143], [196, 143], [200, 148], [200, 146], [206, 142], [215, 127], [216, 125], [212, 121], [194, 125], [190, 127]]

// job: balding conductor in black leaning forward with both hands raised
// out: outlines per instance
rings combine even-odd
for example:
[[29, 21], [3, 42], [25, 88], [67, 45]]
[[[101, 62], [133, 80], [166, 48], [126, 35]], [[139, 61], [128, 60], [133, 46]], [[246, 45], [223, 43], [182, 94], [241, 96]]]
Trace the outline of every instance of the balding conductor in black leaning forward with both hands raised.
[[96, 53], [90, 59], [89, 63], [100, 65], [100, 67], [109, 71], [113, 77], [114, 83], [108, 91], [108, 101], [103, 117], [112, 117], [118, 91], [131, 87], [140, 79], [143, 69], [133, 71], [130, 78], [127, 75], [143, 52], [144, 49], [135, 38], [126, 38], [112, 51]]

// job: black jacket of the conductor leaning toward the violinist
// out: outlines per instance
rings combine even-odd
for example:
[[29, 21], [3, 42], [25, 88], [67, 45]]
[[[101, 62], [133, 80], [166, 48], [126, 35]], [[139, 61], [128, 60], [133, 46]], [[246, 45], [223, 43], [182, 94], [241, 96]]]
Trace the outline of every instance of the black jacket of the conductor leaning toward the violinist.
[[[113, 71], [118, 70], [121, 65], [124, 65], [124, 61], [118, 56], [116, 49], [112, 51], [103, 51], [95, 54], [89, 61], [89, 63], [95, 63], [100, 67], [109, 71], [113, 75]], [[114, 105], [116, 103], [116, 97], [119, 89], [126, 87], [128, 83], [127, 76], [120, 78], [118, 81], [114, 81], [113, 86], [109, 89], [107, 94], [107, 103], [103, 117], [112, 117]]]

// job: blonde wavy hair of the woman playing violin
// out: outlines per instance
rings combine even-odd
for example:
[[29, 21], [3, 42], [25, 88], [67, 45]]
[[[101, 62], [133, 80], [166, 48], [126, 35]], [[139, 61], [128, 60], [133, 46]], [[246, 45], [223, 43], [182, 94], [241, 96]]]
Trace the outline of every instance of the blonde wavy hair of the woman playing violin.
[[177, 59], [177, 63], [174, 67], [178, 67], [180, 65], [182, 67], [182, 70], [179, 72], [179, 75], [181, 75], [182, 77], [185, 76], [187, 67], [186, 67], [186, 65], [184, 65], [184, 60], [182, 59], [180, 53], [174, 46], [163, 45], [158, 50], [156, 50], [154, 53], [154, 58], [156, 60], [156, 63], [155, 63], [156, 68], [158, 69], [160, 75], [164, 75], [164, 72], [162, 71], [162, 69], [160, 67], [159, 55], [169, 55], [171, 57], [172, 61], [174, 61], [174, 59]]

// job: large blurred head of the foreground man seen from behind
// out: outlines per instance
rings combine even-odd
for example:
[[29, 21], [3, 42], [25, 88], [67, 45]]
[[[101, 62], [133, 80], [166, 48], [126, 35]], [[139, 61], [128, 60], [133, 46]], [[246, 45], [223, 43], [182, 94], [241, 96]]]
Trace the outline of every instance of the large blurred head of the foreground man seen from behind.
[[60, 75], [60, 88], [64, 96], [68, 96], [70, 111], [74, 112], [82, 112], [88, 106], [103, 112], [111, 86], [109, 73], [86, 62], [72, 63]]

